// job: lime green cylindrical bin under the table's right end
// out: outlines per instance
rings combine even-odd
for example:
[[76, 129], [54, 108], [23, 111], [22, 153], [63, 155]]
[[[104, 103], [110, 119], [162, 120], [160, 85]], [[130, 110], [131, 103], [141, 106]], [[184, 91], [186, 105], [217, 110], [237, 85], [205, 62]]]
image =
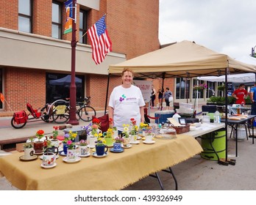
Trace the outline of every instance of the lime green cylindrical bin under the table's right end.
[[[226, 131], [224, 129], [202, 135], [201, 157], [207, 160], [218, 160], [226, 157]], [[218, 154], [218, 156], [217, 156]]]

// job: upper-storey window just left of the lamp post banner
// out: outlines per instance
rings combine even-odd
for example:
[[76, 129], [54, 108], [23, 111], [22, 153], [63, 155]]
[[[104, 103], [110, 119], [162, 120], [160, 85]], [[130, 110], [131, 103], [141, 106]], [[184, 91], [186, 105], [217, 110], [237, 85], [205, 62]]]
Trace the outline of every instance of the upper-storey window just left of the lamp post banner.
[[58, 1], [52, 1], [51, 11], [51, 37], [62, 39], [62, 4]]

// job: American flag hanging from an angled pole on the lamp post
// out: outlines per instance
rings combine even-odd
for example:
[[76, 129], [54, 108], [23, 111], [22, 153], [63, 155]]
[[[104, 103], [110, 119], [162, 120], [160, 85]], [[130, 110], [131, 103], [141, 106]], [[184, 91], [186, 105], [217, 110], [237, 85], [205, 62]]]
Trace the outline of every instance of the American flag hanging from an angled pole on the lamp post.
[[105, 15], [88, 29], [88, 34], [93, 49], [93, 61], [100, 64], [107, 53], [112, 51], [112, 42], [107, 33]]

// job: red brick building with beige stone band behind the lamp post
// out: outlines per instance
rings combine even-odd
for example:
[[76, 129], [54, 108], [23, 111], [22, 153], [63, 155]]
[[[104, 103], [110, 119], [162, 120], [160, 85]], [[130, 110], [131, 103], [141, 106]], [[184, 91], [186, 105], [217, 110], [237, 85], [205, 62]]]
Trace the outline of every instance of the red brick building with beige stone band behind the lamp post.
[[[26, 110], [67, 97], [67, 85], [54, 81], [71, 74], [71, 33], [63, 34], [63, 0], [10, 0], [1, 2], [0, 102], [1, 113]], [[90, 41], [83, 34], [107, 13], [106, 24], [113, 52], [102, 64], [91, 58]], [[104, 108], [109, 64], [123, 62], [160, 48], [158, 0], [77, 0], [77, 97], [91, 96], [91, 105]], [[110, 90], [120, 84], [113, 77]]]

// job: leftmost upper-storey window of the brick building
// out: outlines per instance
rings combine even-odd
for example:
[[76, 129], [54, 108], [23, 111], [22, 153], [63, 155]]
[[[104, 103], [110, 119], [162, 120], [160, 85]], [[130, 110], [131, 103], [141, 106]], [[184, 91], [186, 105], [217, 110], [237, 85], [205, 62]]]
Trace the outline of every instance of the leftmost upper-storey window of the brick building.
[[18, 31], [32, 33], [32, 0], [18, 0]]

